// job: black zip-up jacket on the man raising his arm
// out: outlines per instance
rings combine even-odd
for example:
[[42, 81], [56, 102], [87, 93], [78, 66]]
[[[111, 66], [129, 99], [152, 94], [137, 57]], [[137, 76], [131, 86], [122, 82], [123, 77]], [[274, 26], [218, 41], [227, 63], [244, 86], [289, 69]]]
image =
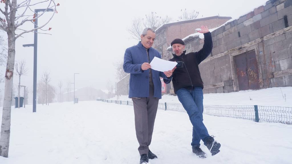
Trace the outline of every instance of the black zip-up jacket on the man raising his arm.
[[[177, 56], [173, 54], [173, 58], [169, 61], [183, 61], [183, 67], [176, 68], [173, 72], [173, 88], [174, 93], [180, 88], [202, 87], [204, 83], [201, 78], [199, 64], [205, 60], [212, 52], [213, 42], [211, 33], [204, 34], [204, 46], [198, 52], [191, 52]], [[170, 83], [171, 80], [164, 79], [165, 83]]]

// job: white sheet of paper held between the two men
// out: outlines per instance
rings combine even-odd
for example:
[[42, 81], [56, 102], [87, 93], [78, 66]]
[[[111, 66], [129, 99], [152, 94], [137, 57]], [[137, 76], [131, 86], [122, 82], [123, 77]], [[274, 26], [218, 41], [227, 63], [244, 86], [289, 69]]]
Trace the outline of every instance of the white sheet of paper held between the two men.
[[158, 57], [154, 57], [154, 59], [150, 62], [151, 69], [161, 72], [172, 70], [176, 64], [178, 63], [159, 59]]

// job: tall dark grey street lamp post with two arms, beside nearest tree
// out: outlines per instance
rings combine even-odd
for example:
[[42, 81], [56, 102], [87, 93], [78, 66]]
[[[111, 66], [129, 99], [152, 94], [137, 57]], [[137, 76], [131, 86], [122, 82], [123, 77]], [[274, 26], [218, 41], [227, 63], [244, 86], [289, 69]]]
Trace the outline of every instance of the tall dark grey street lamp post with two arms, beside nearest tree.
[[[34, 9], [35, 17], [38, 17], [38, 12], [52, 12], [53, 9]], [[37, 19], [34, 21], [34, 28], [37, 28]], [[34, 43], [24, 44], [23, 47], [34, 47], [34, 78], [33, 78], [33, 100], [32, 100], [32, 112], [36, 112], [36, 66], [37, 66], [37, 29], [34, 30]]]

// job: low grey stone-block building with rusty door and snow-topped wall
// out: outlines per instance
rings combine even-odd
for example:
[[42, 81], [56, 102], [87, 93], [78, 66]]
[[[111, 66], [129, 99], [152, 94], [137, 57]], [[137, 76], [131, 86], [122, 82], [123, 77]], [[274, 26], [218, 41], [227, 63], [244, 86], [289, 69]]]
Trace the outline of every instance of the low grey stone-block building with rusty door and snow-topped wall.
[[[199, 65], [204, 93], [292, 86], [292, 0], [267, 1], [211, 34], [212, 53]], [[187, 52], [204, 44], [194, 35], [184, 41]]]

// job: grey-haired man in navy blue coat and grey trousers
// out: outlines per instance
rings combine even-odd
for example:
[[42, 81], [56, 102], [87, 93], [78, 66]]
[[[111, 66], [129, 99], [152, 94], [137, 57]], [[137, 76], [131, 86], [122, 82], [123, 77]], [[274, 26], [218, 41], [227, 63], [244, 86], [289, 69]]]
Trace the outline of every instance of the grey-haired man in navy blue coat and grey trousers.
[[160, 53], [151, 48], [155, 40], [155, 31], [151, 28], [143, 30], [141, 41], [126, 49], [124, 55], [124, 71], [130, 73], [129, 98], [133, 100], [135, 114], [135, 130], [139, 142], [140, 164], [148, 163], [148, 159], [157, 158], [149, 150], [152, 139], [154, 121], [158, 101], [161, 99], [160, 77], [171, 79], [172, 70], [160, 72], [151, 69], [149, 64], [153, 58], [161, 58]]

